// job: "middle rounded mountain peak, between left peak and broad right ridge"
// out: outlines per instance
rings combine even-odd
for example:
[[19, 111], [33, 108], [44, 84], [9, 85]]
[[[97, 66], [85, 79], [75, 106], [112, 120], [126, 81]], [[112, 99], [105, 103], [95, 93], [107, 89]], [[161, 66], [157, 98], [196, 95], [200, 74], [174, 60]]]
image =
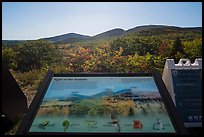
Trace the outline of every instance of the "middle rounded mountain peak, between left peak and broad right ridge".
[[116, 28], [116, 29], [112, 29], [103, 33], [100, 33], [98, 35], [95, 35], [93, 37], [91, 37], [92, 39], [106, 39], [106, 38], [113, 38], [113, 37], [118, 37], [125, 34], [125, 30], [120, 29], [120, 28]]

